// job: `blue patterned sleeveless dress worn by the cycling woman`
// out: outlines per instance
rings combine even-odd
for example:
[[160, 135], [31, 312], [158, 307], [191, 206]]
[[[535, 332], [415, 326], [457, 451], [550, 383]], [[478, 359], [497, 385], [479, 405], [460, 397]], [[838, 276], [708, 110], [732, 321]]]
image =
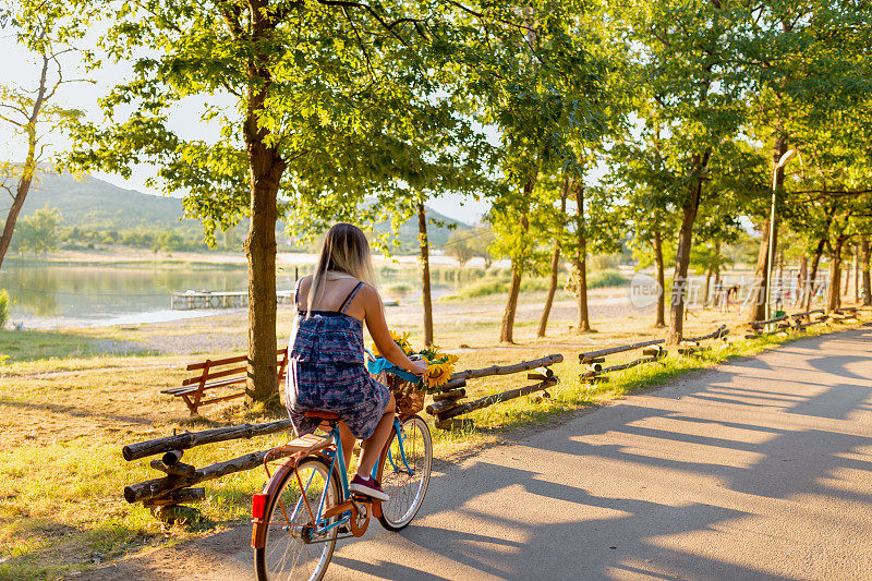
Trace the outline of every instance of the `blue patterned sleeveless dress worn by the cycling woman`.
[[[390, 401], [387, 386], [366, 371], [363, 322], [346, 314], [363, 282], [346, 296], [339, 311], [306, 312], [298, 307], [296, 334], [288, 348], [288, 413], [298, 436], [311, 434], [320, 420], [311, 410], [339, 414], [351, 433], [367, 439]], [[299, 289], [299, 287], [298, 287]]]

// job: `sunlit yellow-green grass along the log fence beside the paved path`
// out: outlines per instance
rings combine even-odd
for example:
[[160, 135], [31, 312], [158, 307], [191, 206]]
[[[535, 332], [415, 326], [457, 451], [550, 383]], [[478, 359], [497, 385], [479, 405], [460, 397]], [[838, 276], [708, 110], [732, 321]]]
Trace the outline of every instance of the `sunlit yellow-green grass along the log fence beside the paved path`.
[[[535, 305], [541, 296], [541, 293], [522, 295], [522, 303]], [[571, 298], [568, 301], [571, 304]], [[469, 304], [499, 308], [486, 299], [472, 300]], [[464, 304], [463, 308], [467, 307]], [[412, 324], [413, 315], [407, 319], [398, 316], [393, 323], [398, 328], [411, 329], [412, 340], [417, 344], [421, 329]], [[720, 320], [723, 315], [717, 313], [697, 313], [688, 320], [687, 332], [711, 330]], [[207, 498], [199, 506], [199, 516], [169, 531], [162, 531], [142, 506], [123, 500], [121, 492], [125, 485], [156, 474], [148, 467], [148, 459], [125, 462], [120, 451], [122, 445], [175, 431], [207, 427], [192, 426], [184, 407], [160, 394], [160, 389], [181, 383], [186, 375], [185, 363], [205, 358], [142, 352], [107, 354], [95, 347], [95, 336], [105, 341], [130, 341], [159, 332], [207, 332], [216, 327], [223, 328], [225, 323], [231, 329], [244, 331], [242, 315], [240, 320], [217, 318], [185, 324], [194, 327], [142, 325], [99, 332], [0, 334], [0, 352], [11, 353], [10, 362], [0, 366], [0, 449], [3, 450], [0, 455], [0, 578], [57, 579], [146, 546], [210, 534], [246, 520], [251, 495], [265, 482], [262, 470], [205, 483]], [[281, 324], [287, 323], [287, 317], [282, 318]], [[567, 323], [553, 323], [549, 337], [536, 339], [530, 320], [519, 320], [516, 337], [522, 344], [516, 346], [494, 346], [498, 327], [492, 314], [479, 320], [464, 320], [457, 328], [447, 325], [438, 328], [444, 348], [453, 350], [460, 343], [473, 346], [460, 352], [462, 368], [513, 363], [555, 352], [564, 353], [565, 361], [555, 367], [561, 383], [549, 389], [550, 398], [534, 395], [479, 410], [467, 416], [476, 427], [465, 432], [434, 429], [437, 457], [451, 459], [473, 453], [480, 447], [516, 437], [519, 428], [559, 421], [579, 409], [663, 385], [688, 371], [751, 355], [792, 340], [791, 337], [768, 337], [717, 343], [715, 349], [699, 358], [670, 355], [662, 364], [613, 374], [608, 384], [588, 385], [579, 382], [582, 370], [578, 352], [596, 349], [603, 343], [641, 340], [659, 331], [649, 327], [647, 315], [595, 319], [600, 334], [593, 336], [574, 335]], [[735, 325], [735, 317], [728, 323]], [[813, 329], [815, 334], [827, 330], [821, 326]], [[20, 341], [17, 346], [16, 341]], [[474, 399], [528, 383], [525, 374], [476, 379], [470, 382], [468, 392]], [[207, 409], [205, 413], [222, 424], [275, 419], [244, 415], [239, 403]], [[185, 461], [202, 467], [267, 449], [287, 437], [287, 434], [278, 434], [203, 446], [186, 452]]]

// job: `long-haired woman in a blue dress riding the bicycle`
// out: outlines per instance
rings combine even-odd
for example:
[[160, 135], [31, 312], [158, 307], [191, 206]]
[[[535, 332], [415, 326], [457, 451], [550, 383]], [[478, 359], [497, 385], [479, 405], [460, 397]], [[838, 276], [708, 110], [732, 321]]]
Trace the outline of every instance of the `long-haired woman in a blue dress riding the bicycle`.
[[373, 259], [363, 231], [350, 223], [335, 225], [324, 239], [315, 274], [296, 286], [287, 395], [298, 436], [311, 434], [320, 423], [304, 417], [306, 411], [341, 417], [338, 425], [346, 465], [354, 439], [364, 440], [349, 488], [385, 501], [388, 495], [371, 474], [391, 435], [395, 401], [387, 386], [366, 371], [363, 322], [390, 363], [416, 375], [426, 371], [426, 364], [411, 361], [391, 339], [373, 281]]

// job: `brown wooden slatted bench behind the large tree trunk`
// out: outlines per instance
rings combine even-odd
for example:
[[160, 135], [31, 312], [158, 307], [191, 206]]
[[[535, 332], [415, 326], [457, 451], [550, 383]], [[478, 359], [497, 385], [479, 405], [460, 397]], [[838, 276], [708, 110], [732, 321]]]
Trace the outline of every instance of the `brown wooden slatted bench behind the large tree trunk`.
[[[203, 363], [192, 363], [186, 370], [196, 371], [197, 375], [186, 378], [179, 387], [161, 389], [161, 394], [182, 398], [191, 415], [198, 415], [197, 408], [227, 401], [229, 399], [245, 397], [245, 379], [247, 377], [247, 355], [227, 358], [219, 360], [207, 359]], [[242, 365], [240, 365], [240, 363]], [[288, 349], [279, 349], [276, 352], [276, 364], [278, 365], [278, 380], [284, 379], [288, 367]], [[207, 389], [229, 388], [233, 392], [203, 399]]]

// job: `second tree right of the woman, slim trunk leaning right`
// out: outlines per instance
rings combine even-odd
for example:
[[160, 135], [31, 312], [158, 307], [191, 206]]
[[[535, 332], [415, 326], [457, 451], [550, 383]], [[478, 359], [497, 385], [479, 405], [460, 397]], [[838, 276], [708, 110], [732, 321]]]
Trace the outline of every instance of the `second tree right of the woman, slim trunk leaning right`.
[[511, 283], [499, 340], [513, 342], [514, 316], [524, 271], [543, 267], [546, 216], [555, 198], [537, 182], [576, 164], [572, 136], [595, 129], [604, 64], [573, 34], [583, 7], [536, 3], [526, 11], [526, 29], [507, 31], [481, 69], [491, 82], [473, 87], [485, 99], [480, 119], [495, 125], [505, 157], [505, 187], [487, 214], [495, 254], [511, 259]]

